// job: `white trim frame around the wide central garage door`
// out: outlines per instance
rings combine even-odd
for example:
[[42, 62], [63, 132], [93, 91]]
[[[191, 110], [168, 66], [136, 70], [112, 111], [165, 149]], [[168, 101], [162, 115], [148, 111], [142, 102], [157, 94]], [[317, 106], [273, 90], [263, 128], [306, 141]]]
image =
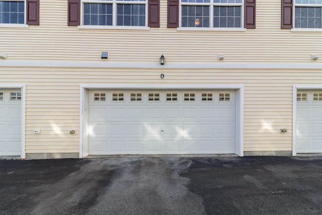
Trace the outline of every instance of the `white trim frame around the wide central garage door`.
[[236, 90], [236, 145], [235, 152], [244, 156], [244, 85], [97, 85], [81, 84], [79, 86], [79, 158], [85, 158], [88, 153], [88, 90], [89, 89], [229, 89]]

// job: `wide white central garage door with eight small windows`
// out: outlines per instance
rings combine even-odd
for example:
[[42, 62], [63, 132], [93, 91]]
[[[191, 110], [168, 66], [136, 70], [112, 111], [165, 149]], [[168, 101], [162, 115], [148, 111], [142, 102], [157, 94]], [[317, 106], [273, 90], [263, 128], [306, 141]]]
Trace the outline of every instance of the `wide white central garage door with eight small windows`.
[[89, 154], [235, 153], [235, 91], [89, 92]]

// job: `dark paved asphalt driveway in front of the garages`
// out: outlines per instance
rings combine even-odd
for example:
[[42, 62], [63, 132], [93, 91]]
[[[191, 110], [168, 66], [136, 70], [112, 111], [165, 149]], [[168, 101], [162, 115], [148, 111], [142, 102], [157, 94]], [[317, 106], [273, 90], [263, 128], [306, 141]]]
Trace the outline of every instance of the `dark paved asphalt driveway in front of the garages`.
[[322, 157], [0, 160], [0, 214], [321, 214]]

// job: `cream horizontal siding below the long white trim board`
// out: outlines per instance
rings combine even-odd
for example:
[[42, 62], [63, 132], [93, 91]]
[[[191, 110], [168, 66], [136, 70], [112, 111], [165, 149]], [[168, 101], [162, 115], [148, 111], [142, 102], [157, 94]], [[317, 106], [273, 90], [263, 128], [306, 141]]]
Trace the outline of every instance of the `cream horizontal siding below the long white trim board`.
[[[4, 68], [4, 67], [2, 67]], [[90, 72], [89, 72], [90, 71]], [[161, 80], [159, 74], [165, 73]], [[45, 75], [42, 75], [45, 74]], [[16, 77], [19, 77], [18, 79]], [[30, 79], [29, 77], [33, 77]], [[3, 83], [26, 84], [26, 152], [78, 152], [79, 85], [244, 85], [244, 150], [292, 150], [292, 86], [320, 84], [320, 70], [22, 68], [2, 70]], [[280, 133], [287, 128], [287, 133]], [[33, 133], [41, 129], [40, 135]], [[75, 129], [76, 135], [69, 135]], [[32, 147], [33, 146], [33, 147]], [[35, 146], [35, 147], [34, 147]]]

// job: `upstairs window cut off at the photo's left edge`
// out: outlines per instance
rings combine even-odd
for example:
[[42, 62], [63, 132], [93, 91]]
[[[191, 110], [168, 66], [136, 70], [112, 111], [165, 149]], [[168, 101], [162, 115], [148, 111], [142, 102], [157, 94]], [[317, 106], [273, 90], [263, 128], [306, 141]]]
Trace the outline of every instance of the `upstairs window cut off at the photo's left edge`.
[[25, 24], [25, 1], [0, 1], [1, 24]]

